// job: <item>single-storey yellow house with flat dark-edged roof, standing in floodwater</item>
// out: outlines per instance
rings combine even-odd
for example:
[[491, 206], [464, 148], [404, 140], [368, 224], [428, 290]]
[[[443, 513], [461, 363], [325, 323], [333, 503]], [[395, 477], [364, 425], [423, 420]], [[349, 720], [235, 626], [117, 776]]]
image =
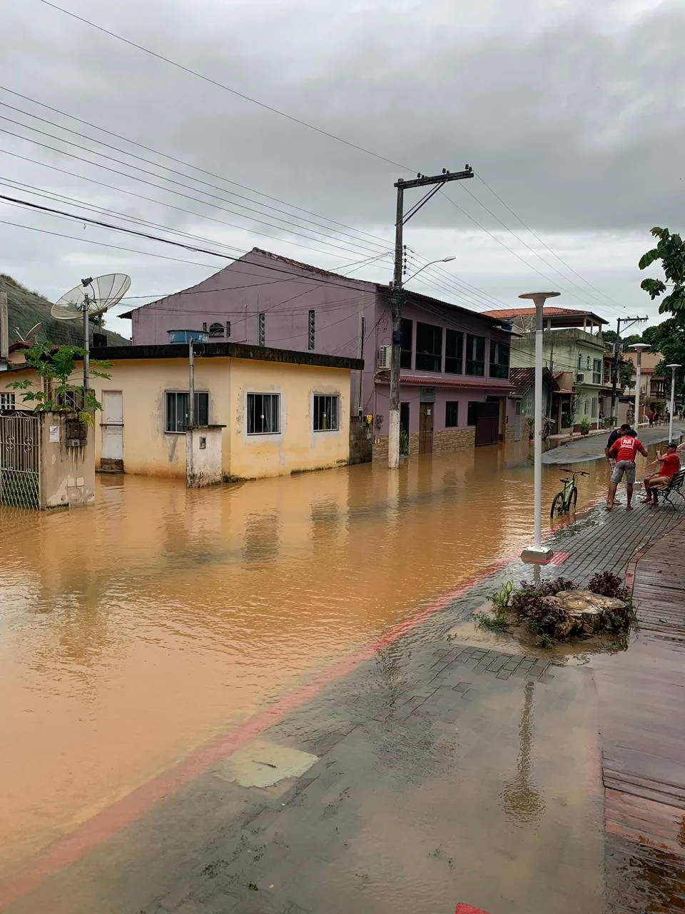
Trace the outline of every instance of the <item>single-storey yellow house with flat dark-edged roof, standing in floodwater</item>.
[[[187, 345], [107, 347], [91, 356], [111, 362], [110, 379], [90, 381], [102, 405], [95, 417], [96, 467], [184, 479]], [[347, 463], [351, 372], [362, 367], [357, 359], [266, 346], [197, 345], [195, 425], [224, 427], [224, 478]], [[0, 397], [29, 371], [15, 364], [0, 373]], [[79, 375], [73, 383], [82, 383]], [[16, 409], [24, 405], [19, 390], [11, 399]]]

